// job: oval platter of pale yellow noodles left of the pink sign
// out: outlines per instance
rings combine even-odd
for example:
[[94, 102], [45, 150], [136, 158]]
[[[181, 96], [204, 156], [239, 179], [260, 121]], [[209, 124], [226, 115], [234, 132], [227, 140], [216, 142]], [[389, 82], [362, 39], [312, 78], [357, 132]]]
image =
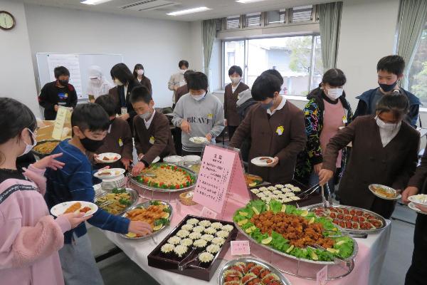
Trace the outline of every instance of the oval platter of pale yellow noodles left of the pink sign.
[[196, 173], [185, 167], [156, 163], [142, 170], [141, 175], [131, 177], [131, 180], [152, 191], [177, 192], [193, 187], [196, 178]]

